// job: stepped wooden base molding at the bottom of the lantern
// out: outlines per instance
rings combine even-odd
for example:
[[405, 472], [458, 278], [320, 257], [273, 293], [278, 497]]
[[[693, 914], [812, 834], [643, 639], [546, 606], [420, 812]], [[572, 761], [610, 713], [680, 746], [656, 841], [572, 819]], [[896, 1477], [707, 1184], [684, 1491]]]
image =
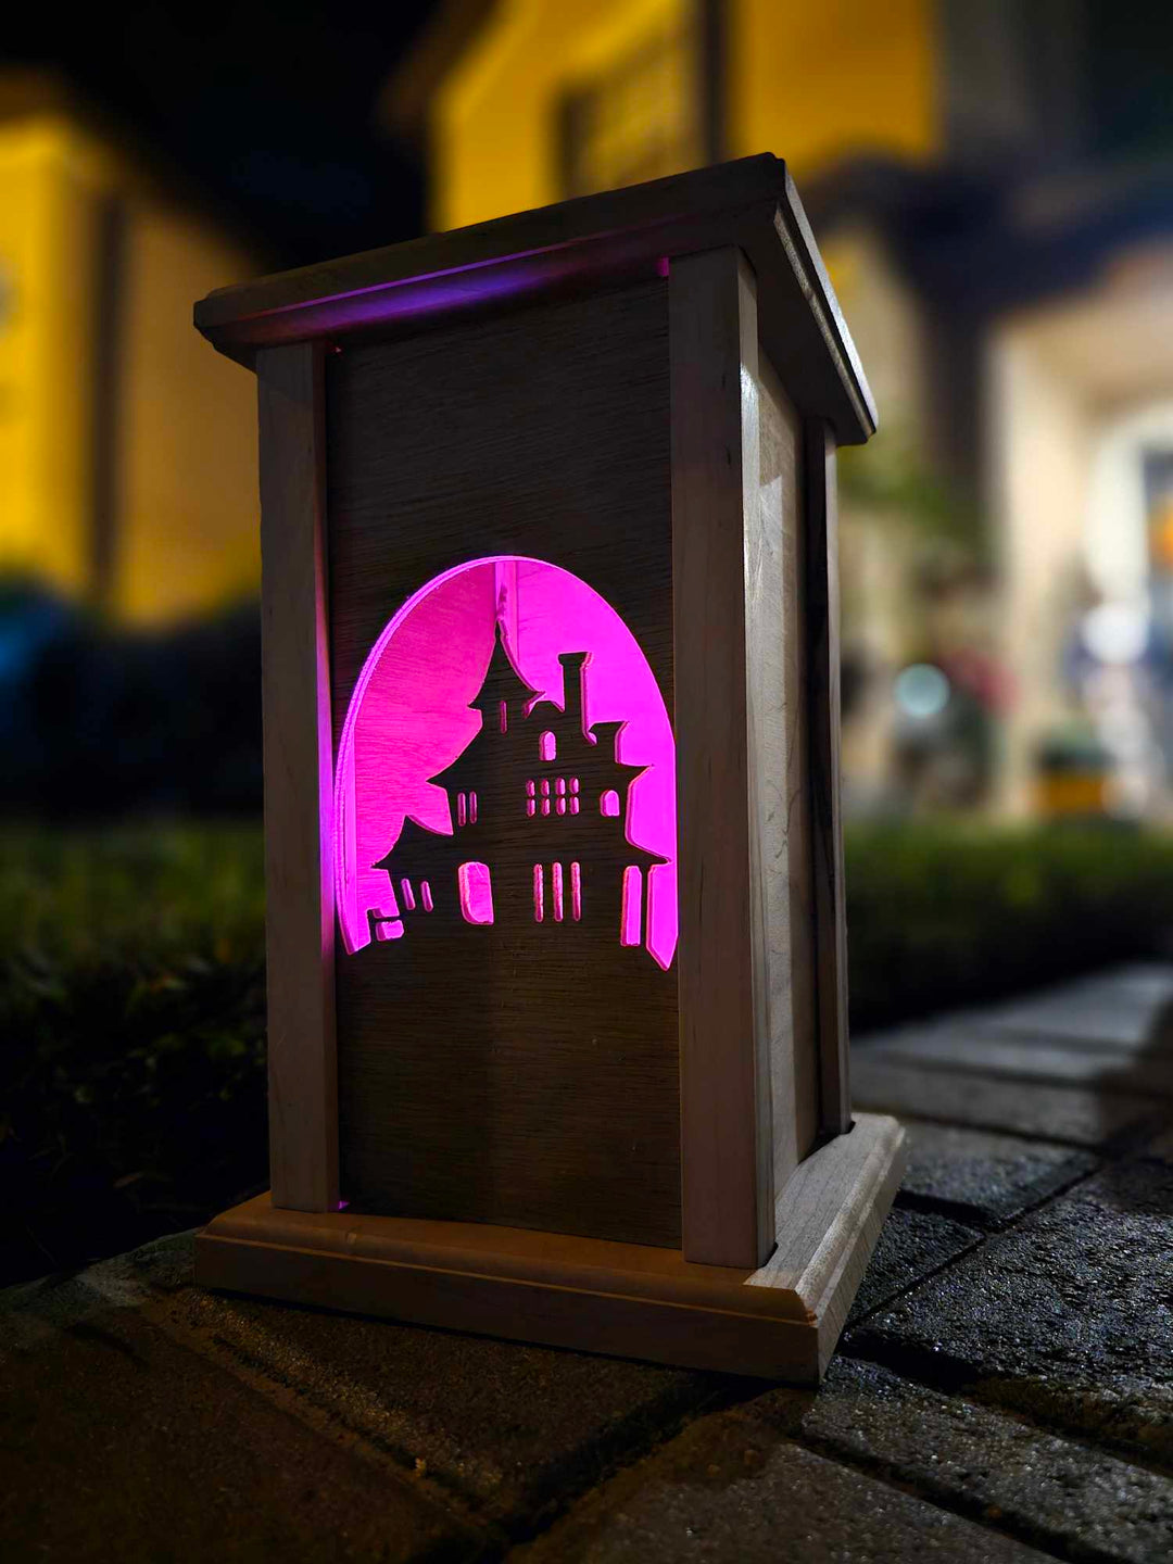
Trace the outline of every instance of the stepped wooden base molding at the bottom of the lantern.
[[816, 1384], [904, 1171], [904, 1129], [859, 1114], [776, 1201], [757, 1272], [679, 1250], [466, 1221], [307, 1212], [258, 1195], [196, 1242], [203, 1287], [579, 1351]]

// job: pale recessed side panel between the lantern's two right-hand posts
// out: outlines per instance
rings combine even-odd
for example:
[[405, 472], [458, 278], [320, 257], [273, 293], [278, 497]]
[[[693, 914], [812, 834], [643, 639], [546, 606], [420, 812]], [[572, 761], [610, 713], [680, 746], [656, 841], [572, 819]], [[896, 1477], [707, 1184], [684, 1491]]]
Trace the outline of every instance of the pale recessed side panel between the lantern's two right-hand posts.
[[759, 355], [760, 480], [748, 536], [748, 666], [754, 896], [773, 1099], [774, 1187], [818, 1135], [818, 1017], [812, 884], [807, 538], [802, 425]]

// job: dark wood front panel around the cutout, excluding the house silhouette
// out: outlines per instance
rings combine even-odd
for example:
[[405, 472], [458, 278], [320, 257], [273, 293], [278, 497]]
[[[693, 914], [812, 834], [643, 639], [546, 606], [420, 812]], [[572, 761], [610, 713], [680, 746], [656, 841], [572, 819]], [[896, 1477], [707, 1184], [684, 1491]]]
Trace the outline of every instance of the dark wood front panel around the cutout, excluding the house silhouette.
[[[327, 375], [335, 743], [400, 604], [494, 554], [605, 597], [671, 716], [666, 283], [347, 347]], [[618, 927], [566, 934], [339, 942], [353, 1209], [679, 1243], [676, 965]]]

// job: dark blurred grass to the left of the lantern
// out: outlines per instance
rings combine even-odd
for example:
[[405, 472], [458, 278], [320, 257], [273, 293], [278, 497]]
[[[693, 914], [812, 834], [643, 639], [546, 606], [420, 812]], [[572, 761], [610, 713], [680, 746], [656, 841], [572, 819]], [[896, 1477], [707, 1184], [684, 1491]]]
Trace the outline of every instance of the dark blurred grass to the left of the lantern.
[[266, 1179], [255, 826], [0, 834], [0, 1282]]

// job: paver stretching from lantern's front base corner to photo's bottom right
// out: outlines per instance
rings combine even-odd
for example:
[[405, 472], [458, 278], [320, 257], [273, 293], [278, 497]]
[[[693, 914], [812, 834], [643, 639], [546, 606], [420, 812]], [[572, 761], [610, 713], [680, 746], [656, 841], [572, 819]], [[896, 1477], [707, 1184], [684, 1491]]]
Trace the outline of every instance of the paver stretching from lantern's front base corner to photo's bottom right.
[[771, 1390], [746, 1411], [1062, 1558], [1173, 1559], [1171, 1478], [874, 1364], [838, 1358], [818, 1394]]

